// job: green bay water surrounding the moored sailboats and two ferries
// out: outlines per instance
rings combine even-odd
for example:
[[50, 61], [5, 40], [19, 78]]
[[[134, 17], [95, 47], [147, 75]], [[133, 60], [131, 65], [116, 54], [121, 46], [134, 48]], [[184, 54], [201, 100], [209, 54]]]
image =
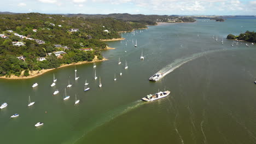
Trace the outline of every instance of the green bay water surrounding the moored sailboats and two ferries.
[[[226, 35], [255, 31], [256, 19], [168, 23], [108, 42], [109, 61], [55, 69], [27, 80], [0, 80], [3, 143], [256, 143], [256, 46]], [[214, 39], [212, 36], [214, 35]], [[218, 41], [215, 41], [218, 35]], [[220, 41], [224, 38], [224, 44]], [[137, 39], [138, 47], [132, 40]], [[125, 45], [127, 41], [127, 46]], [[139, 59], [143, 50], [144, 60]], [[126, 51], [126, 52], [125, 52]], [[118, 65], [118, 59], [121, 64]], [[125, 60], [128, 69], [124, 69]], [[98, 87], [101, 77], [102, 88]], [[161, 71], [158, 82], [148, 78]], [[123, 75], [119, 75], [119, 73]], [[53, 74], [56, 86], [50, 87]], [[117, 81], [114, 81], [116, 74]], [[87, 79], [90, 91], [84, 92]], [[63, 101], [65, 87], [69, 100]], [[38, 87], [32, 88], [37, 82]], [[60, 93], [53, 95], [59, 89]], [[147, 94], [169, 90], [145, 103]], [[74, 105], [75, 94], [80, 99]], [[28, 107], [28, 96], [35, 104]], [[17, 118], [10, 118], [19, 113]], [[44, 125], [35, 128], [34, 124]]]

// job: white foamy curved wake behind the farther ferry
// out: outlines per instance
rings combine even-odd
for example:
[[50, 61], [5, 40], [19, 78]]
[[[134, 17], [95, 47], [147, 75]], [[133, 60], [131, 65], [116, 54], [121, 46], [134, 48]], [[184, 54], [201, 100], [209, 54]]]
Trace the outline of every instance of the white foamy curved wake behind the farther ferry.
[[171, 73], [173, 70], [181, 67], [183, 64], [185, 64], [189, 61], [192, 61], [201, 56], [205, 56], [209, 53], [218, 52], [218, 51], [224, 51], [224, 50], [212, 50], [212, 51], [200, 52], [200, 53], [195, 53], [193, 55], [190, 55], [188, 57], [182, 57], [182, 58], [175, 59], [174, 62], [166, 65], [166, 67], [159, 70], [158, 73], [161, 73], [163, 76], [166, 76], [167, 74]]

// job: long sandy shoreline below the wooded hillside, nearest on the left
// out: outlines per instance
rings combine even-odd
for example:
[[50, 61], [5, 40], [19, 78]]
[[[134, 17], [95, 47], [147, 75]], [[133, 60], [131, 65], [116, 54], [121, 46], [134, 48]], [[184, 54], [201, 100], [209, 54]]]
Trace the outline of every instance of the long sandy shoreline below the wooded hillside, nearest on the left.
[[[79, 65], [79, 64], [85, 64], [85, 63], [94, 63], [94, 62], [102, 62], [102, 61], [107, 61], [107, 58], [103, 58], [101, 60], [96, 60], [97, 56], [95, 56], [94, 60], [92, 60], [91, 62], [88, 61], [83, 61], [83, 62], [77, 62], [77, 63], [71, 63], [71, 64], [63, 64], [61, 65], [59, 68], [63, 68], [63, 67], [68, 67], [70, 65]], [[54, 68], [54, 69], [59, 69], [59, 68]], [[18, 79], [31, 79], [33, 77], [37, 77], [39, 75], [45, 74], [48, 71], [54, 70], [54, 69], [42, 69], [40, 71], [38, 70], [33, 70], [32, 72], [30, 71], [30, 75], [29, 76], [15, 76], [15, 75], [11, 75], [10, 77], [5, 77], [5, 76], [1, 76], [0, 79], [11, 79], [11, 80], [18, 80]], [[22, 71], [21, 74], [23, 74], [24, 71]]]

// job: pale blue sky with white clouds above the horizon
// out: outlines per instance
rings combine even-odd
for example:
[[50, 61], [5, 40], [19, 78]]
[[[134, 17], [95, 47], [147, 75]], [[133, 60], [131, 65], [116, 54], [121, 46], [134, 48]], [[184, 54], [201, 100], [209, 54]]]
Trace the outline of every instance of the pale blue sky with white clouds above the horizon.
[[0, 11], [44, 14], [256, 15], [256, 0], [0, 0]]

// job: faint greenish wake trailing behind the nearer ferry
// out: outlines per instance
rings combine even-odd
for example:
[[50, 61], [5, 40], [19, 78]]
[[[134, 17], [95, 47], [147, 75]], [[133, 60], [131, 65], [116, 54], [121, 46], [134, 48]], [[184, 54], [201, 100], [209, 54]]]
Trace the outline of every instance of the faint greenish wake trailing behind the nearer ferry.
[[118, 116], [124, 115], [124, 113], [127, 113], [133, 109], [136, 109], [138, 106], [141, 106], [143, 104], [146, 104], [142, 100], [137, 100], [133, 103], [123, 105], [118, 107], [117, 109], [109, 110], [105, 113], [102, 113], [101, 115], [98, 115], [94, 118], [92, 118], [91, 122], [88, 122], [86, 125], [86, 129], [83, 131], [83, 136], [80, 137], [78, 140], [76, 140], [74, 143], [83, 142], [85, 139], [85, 136], [92, 130], [96, 129], [97, 127], [100, 127], [101, 125], [112, 121], [112, 119], [117, 118]]

